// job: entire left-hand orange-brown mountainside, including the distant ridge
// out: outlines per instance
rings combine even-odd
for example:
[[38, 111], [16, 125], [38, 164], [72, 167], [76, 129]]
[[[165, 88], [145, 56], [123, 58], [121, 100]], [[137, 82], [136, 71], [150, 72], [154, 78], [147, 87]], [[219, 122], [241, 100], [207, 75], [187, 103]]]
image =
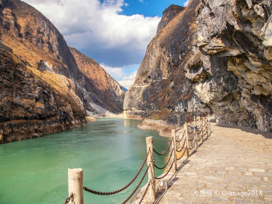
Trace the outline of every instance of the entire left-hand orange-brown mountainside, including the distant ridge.
[[85, 116], [122, 111], [121, 86], [93, 60], [78, 51], [74, 56], [62, 34], [34, 7], [0, 0], [0, 40], [2, 142], [65, 130], [85, 123]]

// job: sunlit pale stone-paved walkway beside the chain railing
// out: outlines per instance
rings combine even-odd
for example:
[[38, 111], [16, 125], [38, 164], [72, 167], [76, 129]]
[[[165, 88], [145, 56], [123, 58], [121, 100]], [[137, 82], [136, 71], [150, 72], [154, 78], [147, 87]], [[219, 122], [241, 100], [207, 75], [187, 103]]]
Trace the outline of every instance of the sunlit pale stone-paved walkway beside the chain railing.
[[170, 187], [157, 193], [155, 203], [272, 203], [272, 134], [215, 123], [211, 131], [169, 173]]

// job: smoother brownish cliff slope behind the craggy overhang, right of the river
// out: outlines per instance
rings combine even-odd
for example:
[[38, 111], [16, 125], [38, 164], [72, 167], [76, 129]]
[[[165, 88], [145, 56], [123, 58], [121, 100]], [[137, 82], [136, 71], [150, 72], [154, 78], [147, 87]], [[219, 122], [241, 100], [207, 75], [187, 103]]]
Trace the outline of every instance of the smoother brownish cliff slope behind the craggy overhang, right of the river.
[[[192, 1], [152, 39], [136, 74], [134, 85], [126, 92], [124, 110], [198, 110], [203, 103], [193, 92], [183, 66], [194, 37], [195, 8]], [[164, 12], [169, 15], [170, 6]], [[164, 19], [165, 17], [162, 17]]]

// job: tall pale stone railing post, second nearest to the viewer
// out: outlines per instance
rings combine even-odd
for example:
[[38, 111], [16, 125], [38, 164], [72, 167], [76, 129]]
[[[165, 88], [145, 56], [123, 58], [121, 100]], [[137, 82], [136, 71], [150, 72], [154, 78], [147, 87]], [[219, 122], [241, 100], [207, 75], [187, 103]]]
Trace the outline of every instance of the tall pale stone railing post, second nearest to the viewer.
[[150, 150], [150, 153], [148, 154], [148, 157], [147, 157], [147, 166], [149, 166], [148, 182], [151, 182], [150, 187], [149, 187], [149, 195], [150, 195], [150, 201], [153, 202], [153, 201], [155, 201], [155, 193], [156, 193], [155, 174], [154, 174], [154, 158], [153, 158], [153, 136], [146, 137], [145, 141], [146, 141], [147, 153]]

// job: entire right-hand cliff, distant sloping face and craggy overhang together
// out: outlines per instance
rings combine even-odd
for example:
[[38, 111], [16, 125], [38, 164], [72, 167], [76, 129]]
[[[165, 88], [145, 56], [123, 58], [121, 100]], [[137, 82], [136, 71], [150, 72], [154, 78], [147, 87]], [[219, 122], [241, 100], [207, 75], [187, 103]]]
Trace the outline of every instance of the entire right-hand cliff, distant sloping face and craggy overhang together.
[[271, 11], [271, 0], [190, 0], [175, 9], [149, 44], [124, 109], [208, 105], [219, 123], [272, 132]]

